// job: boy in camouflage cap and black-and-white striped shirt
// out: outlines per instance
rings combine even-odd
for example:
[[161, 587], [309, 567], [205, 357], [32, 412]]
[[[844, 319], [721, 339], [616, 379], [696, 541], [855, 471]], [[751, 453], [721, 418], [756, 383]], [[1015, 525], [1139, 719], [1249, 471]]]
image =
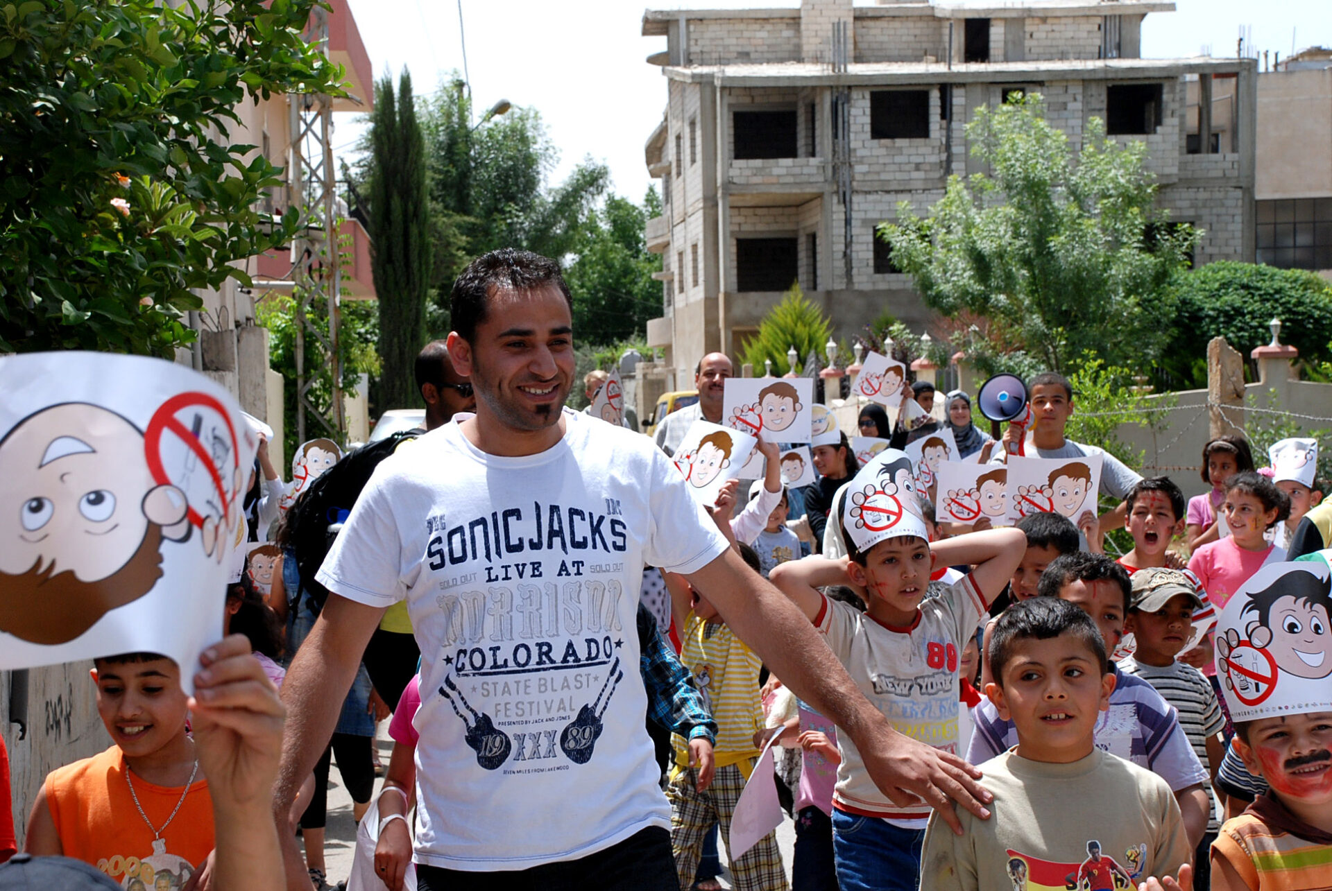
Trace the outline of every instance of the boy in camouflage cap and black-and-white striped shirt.
[[1207, 831], [1197, 846], [1197, 868], [1193, 872], [1195, 884], [1205, 888], [1208, 851], [1220, 828], [1211, 778], [1216, 776], [1225, 754], [1219, 738], [1225, 719], [1207, 677], [1193, 666], [1175, 661], [1192, 634], [1193, 613], [1201, 601], [1193, 581], [1181, 570], [1140, 569], [1131, 581], [1132, 598], [1124, 630], [1134, 633], [1136, 649], [1119, 661], [1119, 667], [1147, 681], [1175, 707], [1193, 754], [1209, 768], [1209, 778], [1203, 782], [1209, 803]]

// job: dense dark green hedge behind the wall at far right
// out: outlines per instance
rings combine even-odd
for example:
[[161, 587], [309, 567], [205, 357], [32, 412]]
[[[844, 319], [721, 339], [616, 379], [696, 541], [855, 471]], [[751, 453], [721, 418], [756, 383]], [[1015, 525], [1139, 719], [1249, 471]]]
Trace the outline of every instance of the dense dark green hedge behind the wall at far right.
[[1162, 357], [1162, 384], [1207, 386], [1207, 342], [1224, 337], [1248, 356], [1272, 340], [1268, 324], [1281, 320], [1281, 342], [1309, 364], [1332, 360], [1332, 285], [1303, 269], [1248, 262], [1209, 262], [1172, 281], [1175, 312], [1169, 348]]

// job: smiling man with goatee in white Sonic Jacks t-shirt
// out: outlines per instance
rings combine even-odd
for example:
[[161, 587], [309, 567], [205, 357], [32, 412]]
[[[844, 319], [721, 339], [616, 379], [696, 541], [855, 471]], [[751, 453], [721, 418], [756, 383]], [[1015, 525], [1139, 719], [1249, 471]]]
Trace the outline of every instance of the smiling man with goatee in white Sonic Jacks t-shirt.
[[[449, 354], [477, 414], [385, 459], [329, 551], [317, 578], [330, 595], [284, 683], [274, 814], [322, 751], [370, 630], [405, 599], [422, 654], [418, 887], [503, 872], [506, 887], [674, 888], [635, 670], [645, 561], [707, 591], [774, 674], [872, 752], [867, 771], [894, 799], [983, 814], [979, 772], [891, 730], [661, 450], [563, 409], [570, 305], [559, 266], [526, 252], [485, 254], [454, 284]], [[282, 835], [288, 888], [302, 890]]]

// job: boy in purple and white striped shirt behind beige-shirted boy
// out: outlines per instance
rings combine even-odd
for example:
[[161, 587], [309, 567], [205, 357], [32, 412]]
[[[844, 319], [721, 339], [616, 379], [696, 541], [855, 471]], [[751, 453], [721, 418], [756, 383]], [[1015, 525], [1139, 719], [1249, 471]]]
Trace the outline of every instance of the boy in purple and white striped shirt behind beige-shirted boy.
[[[1102, 554], [1078, 551], [1052, 562], [1040, 577], [1040, 597], [1058, 597], [1086, 610], [1110, 653], [1124, 633], [1130, 587], [1124, 569]], [[1180, 730], [1175, 709], [1152, 685], [1124, 674], [1114, 663], [1115, 687], [1110, 697], [1110, 717], [1096, 725], [1096, 747], [1127, 758], [1158, 774], [1175, 790], [1184, 827], [1192, 847], [1207, 831], [1207, 771]], [[999, 715], [996, 703], [982, 699], [975, 710], [976, 730], [971, 735], [967, 760], [972, 764], [995, 758], [1018, 744], [1012, 721]]]

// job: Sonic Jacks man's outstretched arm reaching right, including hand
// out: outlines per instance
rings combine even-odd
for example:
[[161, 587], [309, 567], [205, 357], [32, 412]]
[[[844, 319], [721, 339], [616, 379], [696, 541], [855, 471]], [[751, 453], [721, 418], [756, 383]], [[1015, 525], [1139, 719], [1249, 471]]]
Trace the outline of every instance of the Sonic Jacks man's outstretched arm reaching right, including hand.
[[906, 806], [912, 796], [920, 798], [954, 832], [960, 832], [962, 824], [952, 802], [976, 816], [990, 816], [982, 802], [992, 796], [976, 782], [980, 771], [894, 730], [855, 687], [810, 621], [739, 554], [727, 549], [687, 578], [782, 683], [855, 741], [870, 776], [890, 800]]

